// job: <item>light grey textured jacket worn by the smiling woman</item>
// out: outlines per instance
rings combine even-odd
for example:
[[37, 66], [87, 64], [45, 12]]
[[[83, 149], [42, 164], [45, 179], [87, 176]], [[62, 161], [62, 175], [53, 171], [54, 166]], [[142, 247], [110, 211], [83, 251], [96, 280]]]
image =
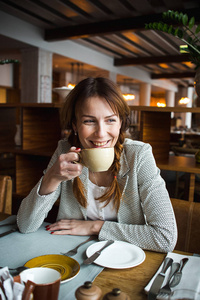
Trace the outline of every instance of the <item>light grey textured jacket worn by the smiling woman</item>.
[[[67, 140], [59, 141], [47, 169], [69, 148]], [[123, 191], [123, 200], [118, 211], [118, 220], [104, 222], [99, 232], [99, 240], [121, 240], [143, 249], [172, 251], [177, 241], [177, 226], [165, 182], [156, 166], [151, 146], [126, 139], [120, 163], [117, 180]], [[88, 169], [84, 167], [80, 179], [86, 191], [88, 175]], [[17, 222], [22, 233], [36, 231], [59, 197], [57, 220], [87, 220], [87, 208], [83, 208], [73, 195], [73, 180], [63, 181], [53, 193], [45, 196], [38, 193], [41, 181], [42, 178], [21, 203]]]

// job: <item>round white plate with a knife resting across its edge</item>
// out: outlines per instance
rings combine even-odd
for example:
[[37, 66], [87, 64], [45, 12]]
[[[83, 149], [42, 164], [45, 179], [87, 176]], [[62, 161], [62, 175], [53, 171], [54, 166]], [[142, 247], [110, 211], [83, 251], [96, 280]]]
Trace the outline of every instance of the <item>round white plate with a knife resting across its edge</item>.
[[[98, 251], [105, 243], [106, 241], [102, 241], [89, 246], [86, 250], [87, 257]], [[94, 263], [112, 269], [125, 269], [140, 265], [145, 258], [146, 255], [141, 248], [126, 242], [115, 241], [102, 251]]]

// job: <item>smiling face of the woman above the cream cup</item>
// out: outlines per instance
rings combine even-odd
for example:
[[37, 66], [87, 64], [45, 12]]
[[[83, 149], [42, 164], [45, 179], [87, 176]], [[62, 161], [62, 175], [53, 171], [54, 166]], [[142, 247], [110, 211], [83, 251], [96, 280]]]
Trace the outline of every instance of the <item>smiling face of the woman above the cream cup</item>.
[[83, 148], [114, 147], [121, 128], [119, 115], [104, 98], [88, 98], [76, 111], [74, 130]]

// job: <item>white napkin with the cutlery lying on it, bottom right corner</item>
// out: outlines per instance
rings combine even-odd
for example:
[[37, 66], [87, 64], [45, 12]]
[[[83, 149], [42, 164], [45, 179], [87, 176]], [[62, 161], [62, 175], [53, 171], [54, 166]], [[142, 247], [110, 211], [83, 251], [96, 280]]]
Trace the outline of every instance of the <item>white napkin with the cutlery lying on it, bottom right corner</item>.
[[168, 253], [144, 289], [148, 300], [199, 300], [199, 269], [198, 256]]

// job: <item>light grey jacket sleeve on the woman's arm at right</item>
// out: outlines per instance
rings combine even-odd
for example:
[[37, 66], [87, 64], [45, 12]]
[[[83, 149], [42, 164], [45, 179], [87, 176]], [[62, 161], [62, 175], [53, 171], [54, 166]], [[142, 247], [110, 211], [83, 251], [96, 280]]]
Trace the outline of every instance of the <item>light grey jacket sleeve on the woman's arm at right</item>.
[[[138, 198], [143, 213], [143, 221], [140, 224], [126, 222], [130, 220], [130, 214], [140, 213], [131, 210], [136, 193], [125, 190], [125, 197], [122, 201], [130, 203], [130, 211], [122, 209], [123, 222], [106, 221], [99, 233], [99, 239], [115, 239], [127, 241], [143, 249], [168, 252], [172, 251], [177, 241], [177, 226], [175, 216], [165, 182], [160, 176], [150, 145], [143, 144], [140, 151], [135, 154], [132, 173], [129, 180], [136, 178]], [[136, 173], [136, 175], [134, 175]], [[130, 188], [129, 188], [130, 189]], [[121, 204], [123, 206], [123, 204]]]

